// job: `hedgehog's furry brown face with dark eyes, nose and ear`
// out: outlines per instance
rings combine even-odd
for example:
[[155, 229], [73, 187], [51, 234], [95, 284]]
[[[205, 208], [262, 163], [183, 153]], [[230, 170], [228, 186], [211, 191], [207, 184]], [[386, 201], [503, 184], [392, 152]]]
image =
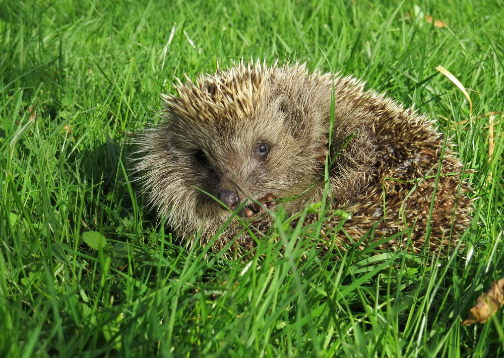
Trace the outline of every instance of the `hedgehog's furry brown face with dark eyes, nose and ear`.
[[[258, 104], [246, 117], [229, 118], [219, 126], [215, 126], [216, 118], [207, 118], [208, 122], [191, 132], [187, 132], [191, 123], [186, 118], [170, 120], [166, 155], [177, 162], [175, 167], [190, 168], [186, 184], [195, 190], [196, 206], [205, 208], [211, 220], [227, 219], [227, 207], [234, 210], [248, 198], [261, 201], [268, 194], [296, 195], [312, 184], [306, 166], [315, 163], [316, 152], [297, 144], [295, 136], [300, 130], [293, 130], [293, 111], [285, 113], [288, 106], [292, 104], [282, 96], [281, 100]], [[246, 217], [251, 215], [245, 210]]]

